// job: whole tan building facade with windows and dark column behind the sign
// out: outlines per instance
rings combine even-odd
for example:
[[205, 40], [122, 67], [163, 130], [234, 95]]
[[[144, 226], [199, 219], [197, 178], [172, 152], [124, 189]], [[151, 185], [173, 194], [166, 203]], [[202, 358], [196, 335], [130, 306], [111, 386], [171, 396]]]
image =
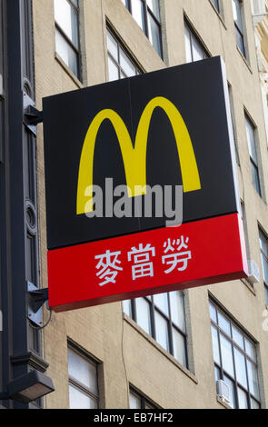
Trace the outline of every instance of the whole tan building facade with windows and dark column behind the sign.
[[[2, 24], [7, 23], [0, 95], [2, 388], [36, 369], [53, 379], [55, 392], [29, 407], [267, 408], [268, 153], [256, 42], [264, 13], [249, 0], [1, 5]], [[9, 10], [15, 6], [17, 34]], [[256, 23], [257, 15], [262, 19]], [[15, 36], [24, 47], [18, 49], [21, 57], [12, 55], [16, 67]], [[264, 36], [262, 43], [268, 58]], [[33, 126], [27, 115], [22, 120], [23, 101], [15, 120], [15, 99], [21, 96], [25, 108], [35, 103], [41, 111], [48, 95], [216, 55], [226, 65], [247, 257], [256, 273], [249, 280], [53, 313], [36, 330], [23, 309], [27, 293], [21, 283], [47, 287], [43, 124]], [[228, 385], [229, 402], [216, 387], [220, 380]]]

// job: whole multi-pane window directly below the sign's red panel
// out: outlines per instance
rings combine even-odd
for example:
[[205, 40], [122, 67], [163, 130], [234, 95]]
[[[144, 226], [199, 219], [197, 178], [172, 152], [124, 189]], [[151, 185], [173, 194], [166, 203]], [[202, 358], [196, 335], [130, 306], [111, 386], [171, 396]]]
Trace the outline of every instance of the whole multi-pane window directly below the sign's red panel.
[[127, 300], [124, 313], [187, 367], [184, 293], [158, 293]]

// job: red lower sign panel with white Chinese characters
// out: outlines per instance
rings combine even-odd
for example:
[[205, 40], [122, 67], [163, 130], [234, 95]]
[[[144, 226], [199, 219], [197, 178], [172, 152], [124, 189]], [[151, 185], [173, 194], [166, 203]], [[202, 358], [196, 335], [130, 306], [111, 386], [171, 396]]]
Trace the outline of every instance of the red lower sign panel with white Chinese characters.
[[55, 312], [246, 276], [239, 214], [48, 251]]

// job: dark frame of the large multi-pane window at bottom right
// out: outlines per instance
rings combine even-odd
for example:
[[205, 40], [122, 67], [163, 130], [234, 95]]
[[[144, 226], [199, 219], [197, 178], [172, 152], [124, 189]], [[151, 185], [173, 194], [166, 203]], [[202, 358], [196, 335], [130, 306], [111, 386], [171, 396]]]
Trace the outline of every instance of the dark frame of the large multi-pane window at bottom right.
[[[230, 317], [230, 315], [228, 313], [226, 313], [219, 305], [218, 303], [216, 303], [213, 298], [209, 299], [209, 304], [212, 304], [214, 306], [214, 308], [216, 309], [216, 318], [217, 318], [217, 323], [215, 323], [213, 321], [213, 319], [211, 318], [211, 324], [213, 325], [214, 328], [217, 329], [217, 338], [218, 338], [218, 347], [219, 347], [219, 356], [220, 356], [220, 364], [219, 365], [217, 362], [214, 361], [214, 367], [216, 367], [219, 372], [220, 372], [220, 377], [221, 380], [223, 380], [223, 377], [228, 378], [231, 382], [233, 382], [234, 385], [234, 400], [235, 400], [235, 408], [234, 409], [238, 409], [238, 389], [241, 389], [243, 392], [246, 393], [247, 395], [247, 404], [248, 404], [248, 409], [252, 408], [252, 403], [251, 403], [251, 399], [253, 399], [253, 401], [257, 402], [260, 405], [260, 409], [262, 408], [262, 402], [261, 399], [258, 400], [252, 392], [250, 392], [250, 386], [249, 386], [249, 374], [248, 374], [248, 367], [247, 367], [247, 363], [246, 361], [248, 360], [249, 362], [252, 362], [253, 365], [256, 368], [256, 371], [258, 373], [258, 363], [255, 362], [251, 356], [246, 353], [246, 351], [240, 347], [239, 344], [237, 344], [236, 342], [233, 341], [233, 329], [232, 329], [232, 325], [243, 335], [243, 345], [245, 345], [245, 338], [253, 344], [254, 348], [256, 349], [256, 343], [253, 342], [253, 339], [243, 331], [243, 329], [241, 328], [241, 326], [239, 326], [238, 323], [236, 323], [235, 321], [233, 321], [232, 317]], [[223, 329], [220, 327], [219, 325], [219, 317], [218, 317], [218, 313], [222, 313], [224, 317], [227, 317], [228, 321], [230, 322], [230, 328], [231, 328], [231, 336], [229, 336], [227, 333], [225, 333], [223, 331]], [[235, 363], [233, 363], [233, 374], [234, 377], [232, 377], [232, 375], [229, 372], [224, 371], [223, 369], [223, 354], [222, 354], [222, 346], [221, 346], [221, 342], [220, 342], [220, 333], [223, 335], [223, 337], [232, 345], [232, 354], [233, 354], [233, 361], [234, 361], [234, 349], [237, 349], [240, 353], [243, 353], [243, 357], [244, 357], [244, 361], [245, 361], [245, 372], [246, 372], [246, 381], [247, 381], [247, 389], [243, 386], [243, 384], [241, 384], [241, 382], [237, 381], [237, 375], [236, 375], [236, 368], [235, 368]], [[258, 381], [259, 381], [259, 377], [258, 377]], [[260, 383], [258, 382], [258, 385], [260, 386]]]

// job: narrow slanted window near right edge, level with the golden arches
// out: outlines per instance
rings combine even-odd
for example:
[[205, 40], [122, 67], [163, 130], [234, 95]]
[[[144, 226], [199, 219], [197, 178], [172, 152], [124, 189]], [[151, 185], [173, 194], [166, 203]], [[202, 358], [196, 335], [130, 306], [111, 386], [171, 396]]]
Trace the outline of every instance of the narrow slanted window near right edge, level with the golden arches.
[[247, 115], [245, 115], [245, 127], [246, 127], [247, 144], [248, 144], [250, 161], [251, 161], [251, 170], [253, 175], [253, 186], [256, 192], [260, 194], [260, 196], [262, 196], [260, 176], [259, 176], [258, 157], [257, 157], [257, 151], [256, 151], [256, 143], [255, 143], [255, 127]]

